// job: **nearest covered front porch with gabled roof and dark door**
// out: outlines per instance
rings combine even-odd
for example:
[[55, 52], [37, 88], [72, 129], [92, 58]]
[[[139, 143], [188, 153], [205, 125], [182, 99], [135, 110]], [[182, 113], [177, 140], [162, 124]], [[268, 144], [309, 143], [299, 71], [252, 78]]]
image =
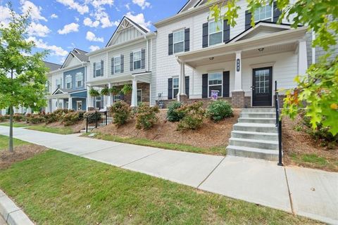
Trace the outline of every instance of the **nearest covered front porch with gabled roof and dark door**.
[[[278, 89], [296, 86], [294, 77], [308, 67], [306, 27], [261, 23], [226, 44], [177, 54], [181, 65], [179, 101], [185, 94], [184, 67], [193, 69], [189, 98], [211, 99], [211, 91], [232, 103], [234, 108], [272, 107]], [[199, 84], [202, 84], [199, 86]], [[192, 92], [192, 91], [190, 91]]]

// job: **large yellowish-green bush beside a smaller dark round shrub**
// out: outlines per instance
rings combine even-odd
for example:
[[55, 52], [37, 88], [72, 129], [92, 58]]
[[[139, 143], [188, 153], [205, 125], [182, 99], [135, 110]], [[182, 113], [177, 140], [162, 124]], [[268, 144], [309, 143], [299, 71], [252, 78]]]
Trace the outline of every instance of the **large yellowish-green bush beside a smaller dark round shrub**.
[[183, 113], [184, 117], [177, 124], [177, 130], [199, 129], [206, 116], [206, 110], [204, 110], [202, 106], [203, 102], [201, 101], [189, 105], [182, 105], [177, 111]]

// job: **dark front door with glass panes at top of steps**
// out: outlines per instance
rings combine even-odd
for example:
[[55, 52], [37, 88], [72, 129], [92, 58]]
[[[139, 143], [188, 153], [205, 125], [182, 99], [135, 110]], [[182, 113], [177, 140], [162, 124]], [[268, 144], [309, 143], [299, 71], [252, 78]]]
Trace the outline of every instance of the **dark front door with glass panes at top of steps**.
[[252, 72], [252, 106], [271, 106], [273, 68], [257, 68]]

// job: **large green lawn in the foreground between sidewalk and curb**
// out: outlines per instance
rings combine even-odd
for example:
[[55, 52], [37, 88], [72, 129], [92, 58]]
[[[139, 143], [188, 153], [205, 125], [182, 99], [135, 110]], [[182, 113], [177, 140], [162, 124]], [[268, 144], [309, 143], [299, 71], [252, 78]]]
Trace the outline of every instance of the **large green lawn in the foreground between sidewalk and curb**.
[[48, 150], [0, 170], [36, 224], [314, 224], [242, 200]]

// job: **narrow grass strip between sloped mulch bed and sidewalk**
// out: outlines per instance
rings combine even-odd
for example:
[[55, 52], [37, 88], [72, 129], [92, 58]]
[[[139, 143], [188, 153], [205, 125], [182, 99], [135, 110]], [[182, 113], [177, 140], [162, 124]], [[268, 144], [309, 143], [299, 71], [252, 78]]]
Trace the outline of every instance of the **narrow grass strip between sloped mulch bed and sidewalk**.
[[[89, 135], [89, 134], [84, 134]], [[190, 153], [203, 153], [211, 155], [227, 155], [227, 150], [225, 146], [213, 147], [213, 148], [200, 148], [195, 146], [189, 146], [182, 143], [166, 143], [161, 141], [153, 141], [149, 139], [140, 139], [140, 138], [125, 138], [120, 136], [113, 136], [108, 134], [95, 133], [94, 138], [102, 139], [105, 141], [116, 141], [121, 143], [131, 143], [139, 146], [149, 146], [154, 148], [164, 148], [169, 150], [180, 150]]]

